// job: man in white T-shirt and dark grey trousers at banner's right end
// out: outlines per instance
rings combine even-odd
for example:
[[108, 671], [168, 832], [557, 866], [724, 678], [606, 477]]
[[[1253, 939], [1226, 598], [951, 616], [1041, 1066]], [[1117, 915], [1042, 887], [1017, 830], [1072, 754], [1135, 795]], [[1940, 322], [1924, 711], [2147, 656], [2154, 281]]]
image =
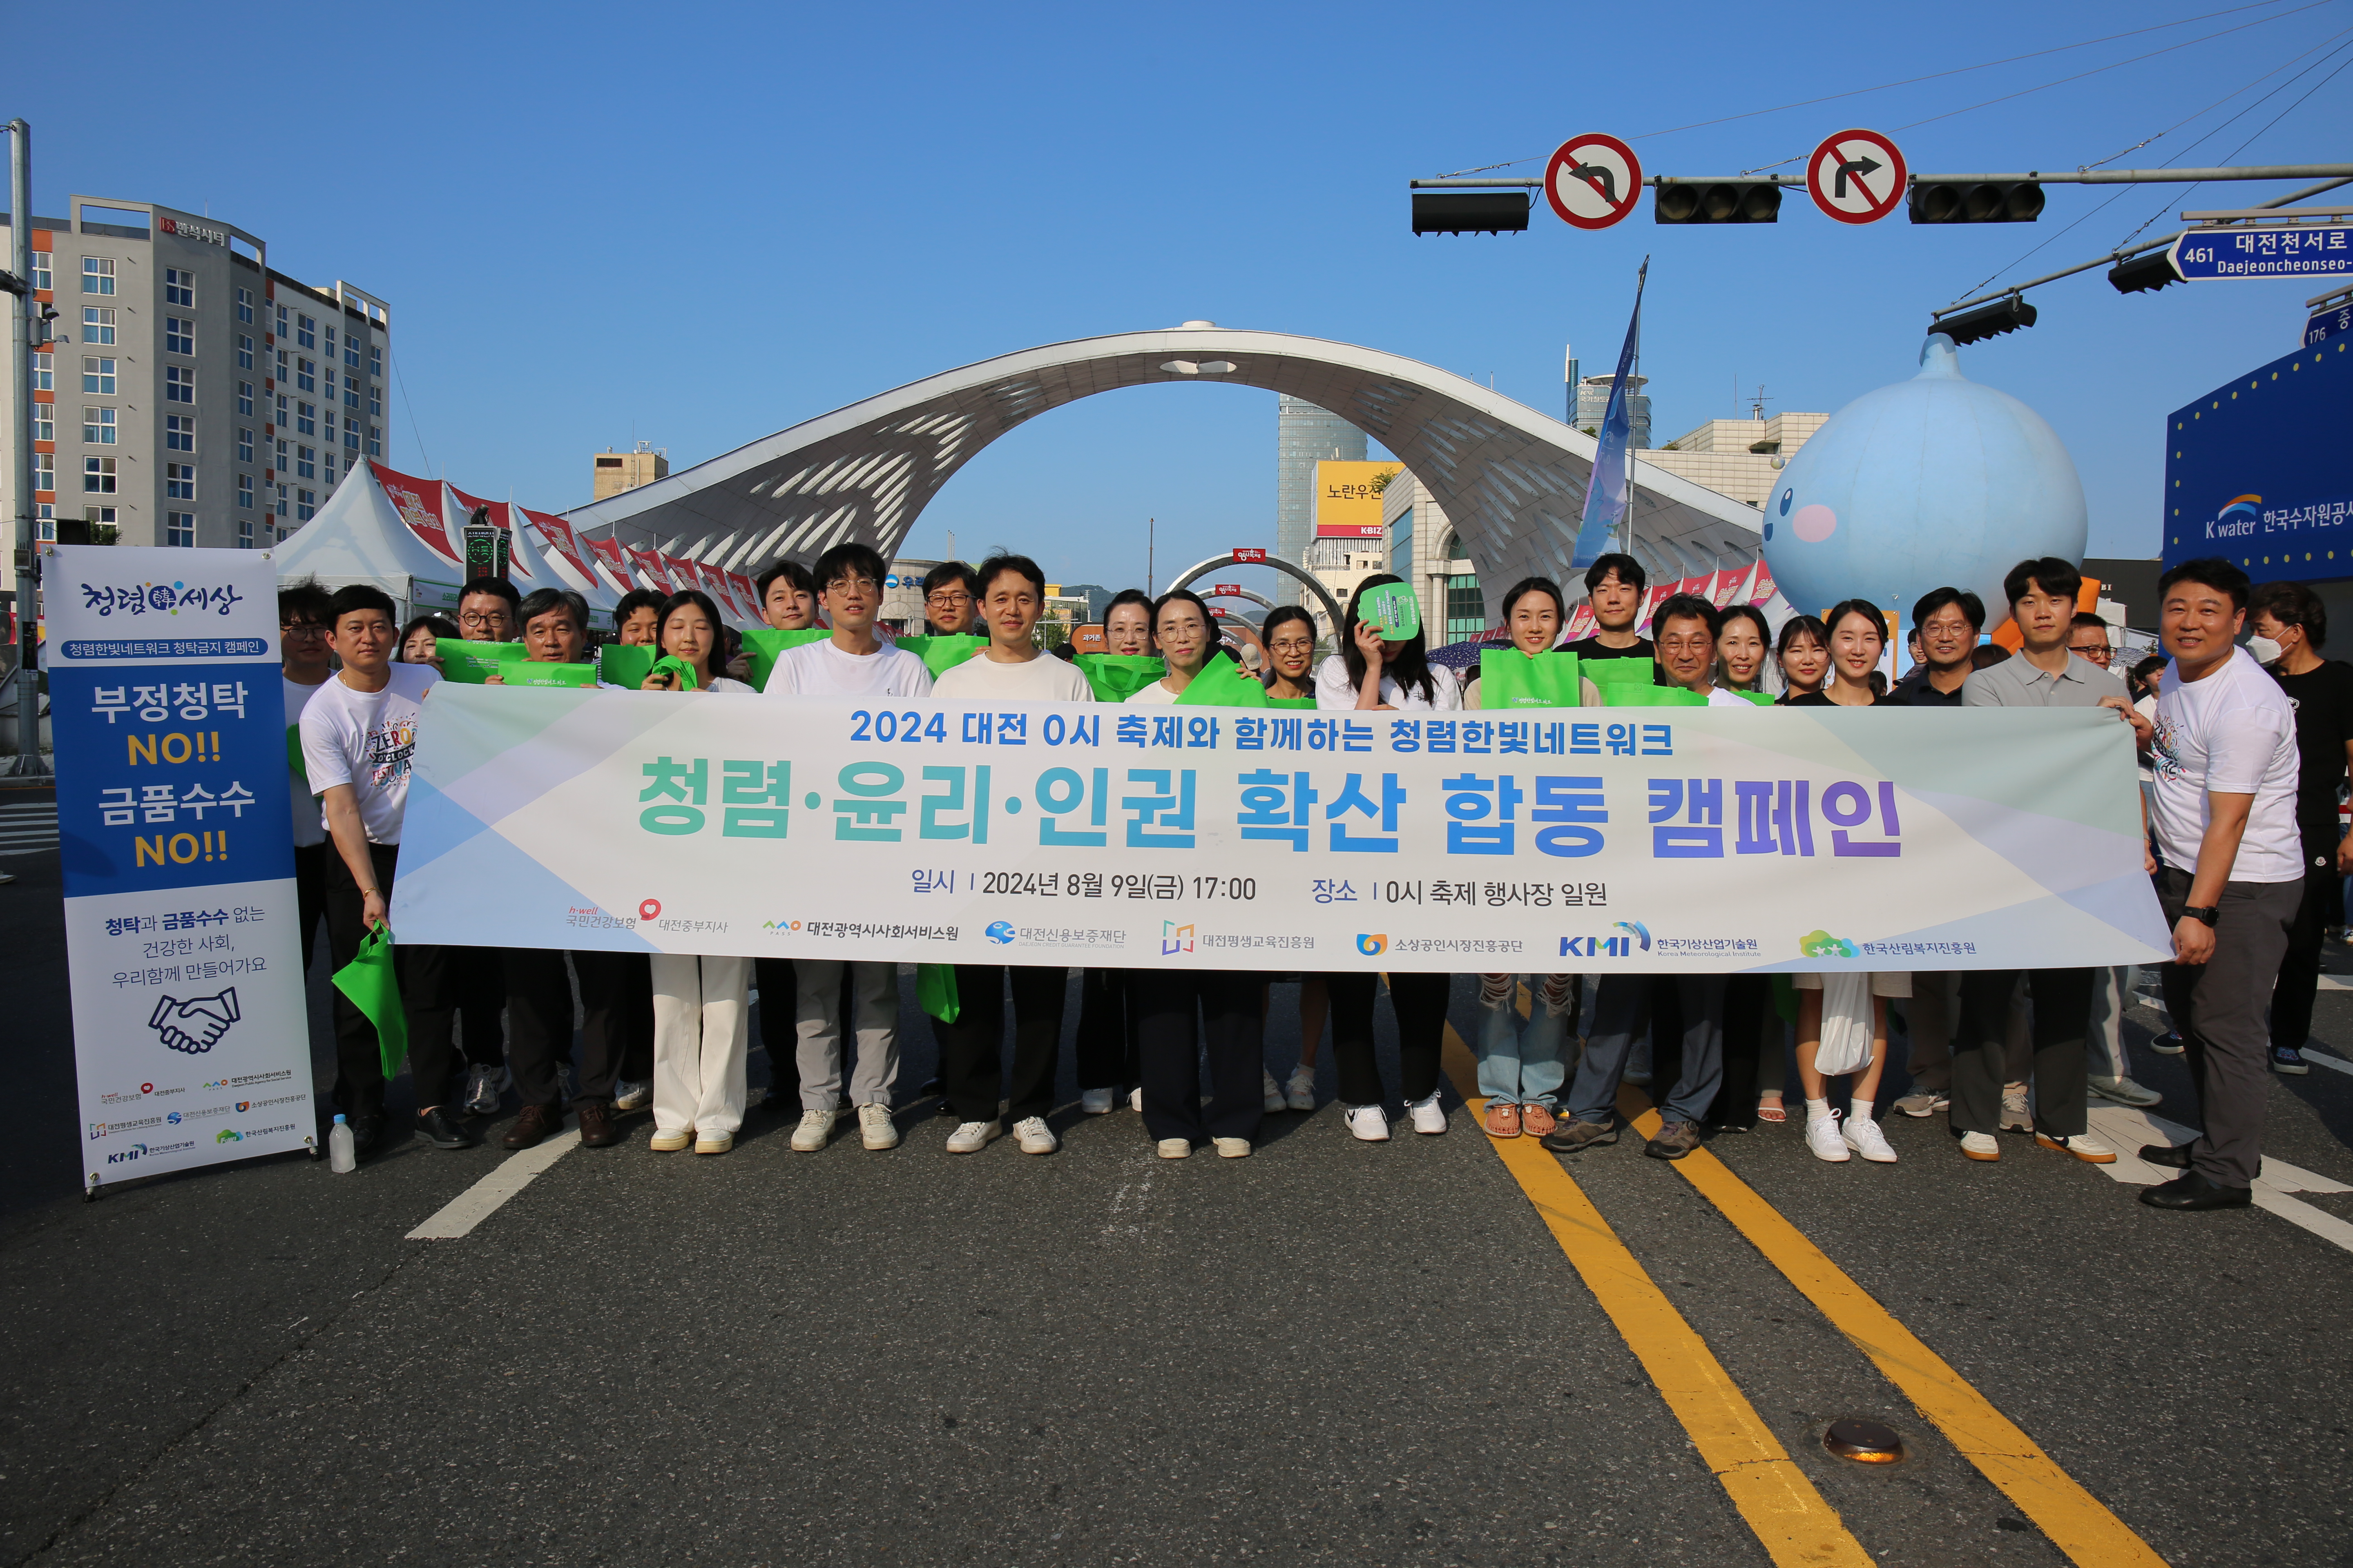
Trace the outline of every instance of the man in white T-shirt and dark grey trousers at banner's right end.
[[2141, 1190], [2151, 1208], [2245, 1208], [2264, 1168], [2264, 1009], [2304, 903], [2304, 842], [2297, 710], [2235, 646], [2245, 621], [2247, 574], [2221, 557], [2158, 578], [2158, 630], [2174, 658], [2151, 743], [2158, 903], [2174, 922], [2165, 1011], [2188, 1051], [2205, 1131], [2141, 1150], [2181, 1171]]

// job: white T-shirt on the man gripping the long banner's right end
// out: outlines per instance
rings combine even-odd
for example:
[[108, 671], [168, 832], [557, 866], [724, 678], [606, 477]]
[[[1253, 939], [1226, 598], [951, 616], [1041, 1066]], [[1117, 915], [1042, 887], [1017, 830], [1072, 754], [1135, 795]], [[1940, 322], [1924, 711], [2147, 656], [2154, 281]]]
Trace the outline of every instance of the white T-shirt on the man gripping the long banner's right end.
[[2155, 773], [2151, 818], [2165, 865], [2195, 875], [2207, 792], [2254, 795], [2231, 882], [2294, 882], [2304, 875], [2297, 710], [2247, 649], [2233, 649], [2231, 663], [2195, 682], [2174, 679], [2174, 665], [2165, 665], [2148, 764]]

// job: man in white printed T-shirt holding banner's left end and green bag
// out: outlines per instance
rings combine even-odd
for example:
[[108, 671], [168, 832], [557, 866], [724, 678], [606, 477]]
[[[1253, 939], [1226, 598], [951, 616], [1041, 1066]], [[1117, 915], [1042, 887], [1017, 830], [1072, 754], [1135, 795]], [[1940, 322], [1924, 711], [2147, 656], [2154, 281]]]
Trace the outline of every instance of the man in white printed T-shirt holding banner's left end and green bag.
[[[416, 717], [440, 675], [433, 665], [395, 665], [393, 602], [353, 583], [329, 602], [334, 654], [344, 661], [301, 710], [301, 757], [311, 788], [327, 806], [327, 950], [334, 969], [386, 924], [386, 900], [400, 860], [400, 820], [409, 802]], [[416, 1084], [416, 1131], [445, 1150], [471, 1150], [475, 1135], [456, 1112], [456, 978], [449, 947], [400, 943], [395, 966], [409, 1025], [409, 1077]], [[334, 994], [334, 1103], [367, 1154], [384, 1138], [384, 1058], [376, 1030], [344, 992]]]

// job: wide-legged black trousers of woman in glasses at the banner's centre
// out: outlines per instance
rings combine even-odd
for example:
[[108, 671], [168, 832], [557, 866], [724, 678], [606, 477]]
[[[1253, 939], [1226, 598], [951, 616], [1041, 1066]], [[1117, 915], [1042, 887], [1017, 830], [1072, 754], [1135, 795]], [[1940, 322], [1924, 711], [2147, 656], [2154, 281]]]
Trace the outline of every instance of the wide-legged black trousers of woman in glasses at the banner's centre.
[[[1127, 1001], [1136, 1018], [1144, 1131], [1153, 1140], [1257, 1138], [1266, 1112], [1259, 1093], [1266, 983], [1233, 969], [1139, 969], [1129, 976]], [[1207, 1114], [1200, 1105], [1205, 1048]]]

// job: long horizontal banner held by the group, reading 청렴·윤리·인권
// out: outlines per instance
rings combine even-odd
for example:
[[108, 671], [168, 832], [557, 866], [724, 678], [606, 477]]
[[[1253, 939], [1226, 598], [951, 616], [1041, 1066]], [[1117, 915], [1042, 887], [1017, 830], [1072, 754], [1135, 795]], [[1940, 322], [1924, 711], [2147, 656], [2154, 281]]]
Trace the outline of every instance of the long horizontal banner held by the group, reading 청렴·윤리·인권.
[[2165, 954], [2132, 731], [1974, 708], [1275, 715], [442, 684], [393, 926], [1120, 969]]

